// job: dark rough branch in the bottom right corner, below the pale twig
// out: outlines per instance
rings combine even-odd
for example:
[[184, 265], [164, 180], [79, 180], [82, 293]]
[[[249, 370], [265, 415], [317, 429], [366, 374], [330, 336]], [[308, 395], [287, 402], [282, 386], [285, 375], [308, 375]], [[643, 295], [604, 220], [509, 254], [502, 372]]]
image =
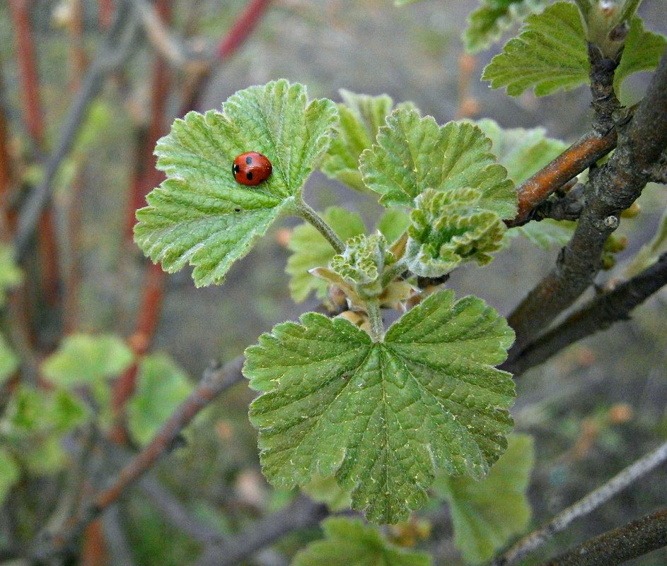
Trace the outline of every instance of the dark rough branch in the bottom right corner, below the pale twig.
[[613, 566], [667, 546], [667, 509], [591, 538], [545, 566]]

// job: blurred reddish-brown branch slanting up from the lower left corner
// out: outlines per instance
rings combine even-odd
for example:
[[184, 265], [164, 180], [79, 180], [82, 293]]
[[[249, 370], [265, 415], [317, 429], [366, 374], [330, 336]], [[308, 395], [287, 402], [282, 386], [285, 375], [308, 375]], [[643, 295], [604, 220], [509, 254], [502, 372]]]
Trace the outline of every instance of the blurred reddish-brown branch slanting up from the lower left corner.
[[180, 434], [190, 421], [204, 407], [207, 407], [219, 394], [226, 391], [243, 379], [241, 367], [243, 356], [235, 358], [224, 367], [211, 367], [204, 372], [199, 386], [181, 403], [169, 420], [157, 432], [153, 440], [143, 449], [132, 462], [127, 464], [109, 488], [93, 497], [93, 501], [84, 506], [79, 514], [54, 533], [48, 536], [42, 546], [38, 546], [32, 553], [35, 560], [45, 560], [50, 556], [63, 553], [79, 538], [86, 525], [96, 519], [107, 507], [117, 501], [141, 476], [146, 473], [158, 459], [170, 451], [178, 442]]

